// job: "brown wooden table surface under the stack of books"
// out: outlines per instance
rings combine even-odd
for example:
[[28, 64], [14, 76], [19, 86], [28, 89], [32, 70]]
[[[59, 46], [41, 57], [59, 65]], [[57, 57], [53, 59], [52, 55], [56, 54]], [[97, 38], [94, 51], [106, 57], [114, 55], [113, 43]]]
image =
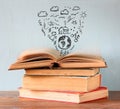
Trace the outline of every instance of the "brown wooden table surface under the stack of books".
[[110, 91], [109, 99], [82, 104], [23, 99], [17, 91], [0, 91], [0, 109], [120, 109], [120, 91]]

